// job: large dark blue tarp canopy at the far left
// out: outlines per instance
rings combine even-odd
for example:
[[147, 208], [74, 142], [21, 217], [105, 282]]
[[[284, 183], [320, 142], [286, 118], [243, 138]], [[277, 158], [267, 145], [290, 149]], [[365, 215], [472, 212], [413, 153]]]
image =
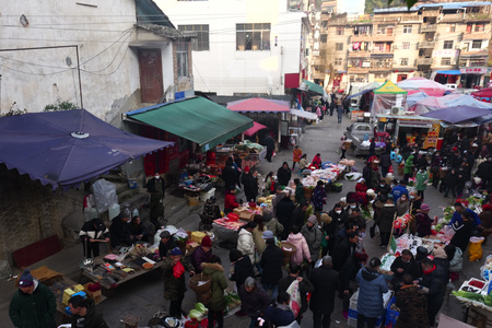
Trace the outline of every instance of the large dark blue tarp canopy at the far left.
[[54, 189], [172, 144], [121, 131], [85, 109], [0, 118], [0, 163]]

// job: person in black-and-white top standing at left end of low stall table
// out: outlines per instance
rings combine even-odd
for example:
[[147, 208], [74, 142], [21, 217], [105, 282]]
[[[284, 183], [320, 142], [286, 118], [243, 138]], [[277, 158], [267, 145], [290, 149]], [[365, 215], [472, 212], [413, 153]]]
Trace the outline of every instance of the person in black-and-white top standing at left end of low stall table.
[[109, 242], [109, 230], [104, 225], [103, 220], [95, 218], [82, 225], [79, 236], [84, 247], [84, 256], [91, 258], [92, 251], [94, 257], [97, 257], [99, 256], [101, 242]]

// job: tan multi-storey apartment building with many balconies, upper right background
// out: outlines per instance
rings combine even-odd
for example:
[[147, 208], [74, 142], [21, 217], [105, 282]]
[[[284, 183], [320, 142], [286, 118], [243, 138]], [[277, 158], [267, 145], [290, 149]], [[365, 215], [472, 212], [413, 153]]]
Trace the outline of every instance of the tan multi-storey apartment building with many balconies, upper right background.
[[[490, 79], [491, 7], [491, 2], [446, 2], [410, 10], [376, 9], [373, 15], [356, 17], [321, 13], [327, 31], [325, 62], [339, 72], [347, 70], [341, 83], [331, 79], [327, 86], [343, 89], [412, 77], [462, 87], [484, 85]], [[344, 51], [337, 46], [340, 43], [347, 44]], [[316, 62], [313, 74], [323, 75], [323, 67]]]

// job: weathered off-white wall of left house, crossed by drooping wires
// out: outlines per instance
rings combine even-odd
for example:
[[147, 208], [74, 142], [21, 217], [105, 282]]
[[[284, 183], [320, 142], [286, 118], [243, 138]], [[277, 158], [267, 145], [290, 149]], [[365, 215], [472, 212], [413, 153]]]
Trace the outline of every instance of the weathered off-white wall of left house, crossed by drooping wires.
[[[0, 48], [78, 45], [83, 107], [112, 121], [140, 89], [137, 51], [128, 47], [137, 35], [134, 1], [80, 2], [96, 8], [75, 1], [3, 1]], [[30, 22], [27, 27], [20, 23], [22, 14]], [[162, 54], [163, 71], [171, 74], [165, 79], [165, 90], [173, 83], [171, 44], [163, 46]], [[72, 61], [70, 67], [67, 57]], [[75, 68], [75, 48], [0, 52], [1, 113], [14, 102], [14, 108], [30, 113], [42, 112], [57, 99], [80, 106]]]

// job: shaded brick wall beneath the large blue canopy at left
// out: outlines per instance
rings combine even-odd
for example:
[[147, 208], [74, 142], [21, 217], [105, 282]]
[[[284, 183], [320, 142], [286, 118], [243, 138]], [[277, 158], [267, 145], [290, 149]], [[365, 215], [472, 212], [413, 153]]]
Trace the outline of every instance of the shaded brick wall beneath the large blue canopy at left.
[[13, 265], [14, 250], [54, 234], [61, 239], [61, 220], [81, 211], [82, 201], [83, 190], [52, 191], [0, 164], [0, 260]]

